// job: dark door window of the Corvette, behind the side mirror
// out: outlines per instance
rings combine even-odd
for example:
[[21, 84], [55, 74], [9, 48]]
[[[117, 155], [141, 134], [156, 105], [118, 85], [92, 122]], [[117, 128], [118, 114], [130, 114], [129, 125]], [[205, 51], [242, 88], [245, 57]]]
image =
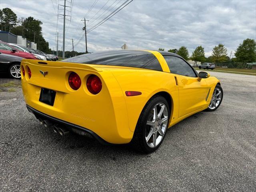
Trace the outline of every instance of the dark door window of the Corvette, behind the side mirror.
[[194, 70], [184, 60], [175, 56], [164, 56], [171, 73], [196, 77]]

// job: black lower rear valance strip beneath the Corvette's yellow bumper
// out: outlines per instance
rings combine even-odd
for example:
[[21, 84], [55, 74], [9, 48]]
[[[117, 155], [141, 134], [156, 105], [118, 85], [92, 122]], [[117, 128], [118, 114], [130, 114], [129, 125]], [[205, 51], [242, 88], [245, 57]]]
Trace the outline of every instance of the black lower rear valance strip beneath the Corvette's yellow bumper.
[[102, 139], [100, 136], [98, 136], [96, 133], [94, 133], [92, 130], [86, 129], [84, 127], [72, 124], [70, 122], [66, 122], [63, 120], [60, 120], [58, 118], [52, 117], [50, 115], [44, 114], [28, 105], [26, 105], [26, 107], [28, 108], [28, 111], [31, 112], [32, 114], [34, 114], [36, 116], [36, 118], [41, 118], [44, 120], [50, 120], [56, 124], [62, 124], [63, 126], [65, 126], [69, 131], [74, 132], [74, 133], [82, 133], [82, 132], [86, 132], [88, 134], [90, 134], [91, 136], [93, 136], [96, 140], [98, 140], [98, 142], [100, 142], [101, 144], [104, 145], [113, 145], [107, 141], [105, 141], [104, 139]]

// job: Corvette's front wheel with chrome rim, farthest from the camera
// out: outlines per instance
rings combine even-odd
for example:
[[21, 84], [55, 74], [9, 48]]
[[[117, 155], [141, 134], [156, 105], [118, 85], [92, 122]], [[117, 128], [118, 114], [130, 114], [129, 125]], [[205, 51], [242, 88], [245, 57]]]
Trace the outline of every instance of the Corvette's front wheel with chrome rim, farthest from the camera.
[[218, 109], [218, 107], [220, 106], [220, 104], [222, 102], [222, 98], [223, 98], [222, 87], [219, 84], [217, 84], [216, 87], [214, 88], [211, 102], [210, 102], [208, 108], [206, 109], [206, 111], [215, 111], [216, 109]]

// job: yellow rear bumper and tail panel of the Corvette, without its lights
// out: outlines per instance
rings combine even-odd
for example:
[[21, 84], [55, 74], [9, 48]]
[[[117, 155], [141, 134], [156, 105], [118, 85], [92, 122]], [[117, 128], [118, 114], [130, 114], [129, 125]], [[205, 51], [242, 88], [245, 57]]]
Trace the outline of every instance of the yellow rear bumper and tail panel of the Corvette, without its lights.
[[[21, 65], [26, 71], [25, 76], [21, 77], [22, 91], [28, 106], [48, 116], [86, 128], [112, 144], [125, 144], [132, 140], [133, 132], [129, 128], [124, 94], [111, 72], [98, 72], [84, 64], [46, 63], [22, 60]], [[28, 78], [28, 67], [32, 72], [31, 78]], [[44, 77], [40, 70], [49, 73]], [[68, 84], [71, 71], [81, 78], [81, 87], [76, 91]], [[86, 79], [91, 74], [102, 80], [102, 90], [96, 95], [91, 94], [86, 86]], [[56, 91], [53, 106], [39, 101], [42, 88]]]

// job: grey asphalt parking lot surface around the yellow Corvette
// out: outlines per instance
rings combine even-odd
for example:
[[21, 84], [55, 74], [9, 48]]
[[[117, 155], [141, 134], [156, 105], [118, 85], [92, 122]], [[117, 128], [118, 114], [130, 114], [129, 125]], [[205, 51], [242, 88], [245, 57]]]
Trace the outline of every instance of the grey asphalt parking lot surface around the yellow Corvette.
[[55, 134], [28, 112], [19, 80], [1, 78], [0, 191], [256, 191], [256, 76], [210, 74], [221, 106], [176, 124], [147, 155]]

